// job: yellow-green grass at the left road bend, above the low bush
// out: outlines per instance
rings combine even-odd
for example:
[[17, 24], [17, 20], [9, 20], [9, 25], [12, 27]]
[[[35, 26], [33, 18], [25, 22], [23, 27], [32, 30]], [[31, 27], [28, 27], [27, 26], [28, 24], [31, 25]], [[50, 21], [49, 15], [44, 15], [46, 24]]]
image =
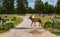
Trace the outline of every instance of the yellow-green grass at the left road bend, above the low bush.
[[[6, 16], [7, 16], [7, 17], [6, 17]], [[16, 14], [0, 14], [0, 17], [2, 17], [3, 19], [7, 19], [7, 23], [8, 23], [8, 22], [12, 22], [12, 23], [15, 22], [15, 24], [19, 24], [19, 23], [22, 22], [22, 20], [23, 20], [22, 18], [17, 17]], [[15, 17], [15, 21], [14, 21], [14, 20], [11, 21], [14, 17]]]

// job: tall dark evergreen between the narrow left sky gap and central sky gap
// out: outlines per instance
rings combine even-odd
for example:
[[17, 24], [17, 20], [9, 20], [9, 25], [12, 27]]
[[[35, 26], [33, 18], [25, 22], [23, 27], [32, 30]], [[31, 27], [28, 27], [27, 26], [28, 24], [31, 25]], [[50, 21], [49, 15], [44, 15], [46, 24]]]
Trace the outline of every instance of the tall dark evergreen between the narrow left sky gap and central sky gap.
[[27, 0], [17, 0], [17, 13], [24, 14], [28, 6]]

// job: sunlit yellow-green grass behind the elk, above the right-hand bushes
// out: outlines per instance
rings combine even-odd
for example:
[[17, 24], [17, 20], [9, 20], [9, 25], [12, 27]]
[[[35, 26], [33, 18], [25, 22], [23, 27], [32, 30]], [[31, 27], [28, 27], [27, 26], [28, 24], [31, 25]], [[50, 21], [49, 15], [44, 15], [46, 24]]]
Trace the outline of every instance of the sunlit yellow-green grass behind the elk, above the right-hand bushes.
[[38, 18], [41, 18], [42, 22], [45, 23], [47, 21], [51, 21], [52, 22], [52, 18], [54, 18], [55, 16], [60, 16], [60, 15], [57, 15], [57, 14], [51, 14], [51, 15], [48, 15], [48, 14], [40, 14], [40, 16], [38, 14], [35, 14], [34, 15], [35, 17], [38, 17]]

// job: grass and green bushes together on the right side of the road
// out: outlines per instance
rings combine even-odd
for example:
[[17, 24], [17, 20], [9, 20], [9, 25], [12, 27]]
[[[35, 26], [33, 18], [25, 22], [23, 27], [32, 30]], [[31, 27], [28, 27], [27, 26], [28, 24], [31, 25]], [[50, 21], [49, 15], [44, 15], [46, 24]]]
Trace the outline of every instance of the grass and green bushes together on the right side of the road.
[[60, 15], [58, 14], [40, 14], [40, 15], [36, 15], [35, 17], [41, 18], [43, 25], [42, 27], [45, 28], [46, 30], [49, 30], [51, 33], [56, 34], [56, 35], [60, 35], [60, 22], [59, 21], [55, 21], [54, 25], [52, 19], [58, 19], [60, 20]]

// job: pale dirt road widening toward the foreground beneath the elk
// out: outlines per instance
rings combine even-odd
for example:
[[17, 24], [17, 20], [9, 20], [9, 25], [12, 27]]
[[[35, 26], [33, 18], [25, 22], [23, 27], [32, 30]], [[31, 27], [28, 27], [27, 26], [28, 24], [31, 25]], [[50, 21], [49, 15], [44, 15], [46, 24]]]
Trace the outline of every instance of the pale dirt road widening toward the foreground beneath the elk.
[[60, 37], [43, 29], [41, 26], [30, 26], [31, 20], [28, 19], [30, 14], [24, 16], [24, 21], [17, 27], [8, 32], [0, 34], [0, 37]]

